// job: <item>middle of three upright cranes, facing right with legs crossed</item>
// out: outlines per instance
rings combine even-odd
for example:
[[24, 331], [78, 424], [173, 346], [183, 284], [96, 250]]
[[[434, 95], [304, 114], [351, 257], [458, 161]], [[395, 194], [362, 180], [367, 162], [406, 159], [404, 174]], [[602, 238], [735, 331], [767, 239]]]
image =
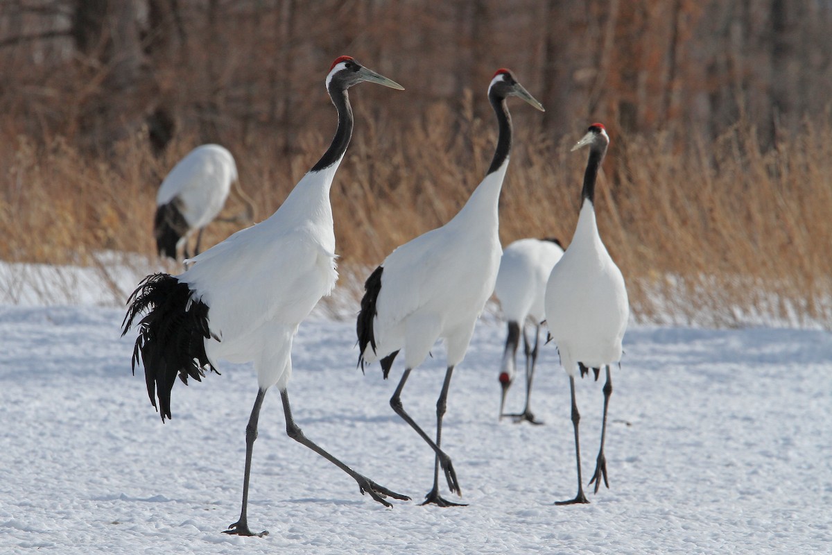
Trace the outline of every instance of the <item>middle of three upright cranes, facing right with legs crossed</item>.
[[[453, 220], [399, 246], [374, 270], [364, 285], [357, 322], [359, 364], [381, 359], [384, 378], [399, 349], [404, 349], [404, 374], [390, 405], [396, 414], [433, 448], [433, 489], [423, 504], [451, 503], [438, 492], [441, 466], [452, 493], [460, 493], [451, 459], [441, 448], [442, 418], [453, 368], [462, 362], [474, 325], [494, 290], [502, 248], [498, 236], [498, 200], [512, 146], [507, 97], [520, 97], [543, 110], [507, 69], [488, 86], [488, 100], [497, 114], [497, 150], [483, 181]], [[437, 339], [444, 339], [448, 369], [436, 404], [436, 441], [404, 410], [401, 393], [410, 371], [422, 364]]]

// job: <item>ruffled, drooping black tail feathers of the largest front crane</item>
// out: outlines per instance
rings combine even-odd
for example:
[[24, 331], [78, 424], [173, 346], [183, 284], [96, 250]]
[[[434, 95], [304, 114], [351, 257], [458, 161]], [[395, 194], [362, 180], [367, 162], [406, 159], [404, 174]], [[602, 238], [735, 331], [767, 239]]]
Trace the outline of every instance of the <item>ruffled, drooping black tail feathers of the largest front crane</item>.
[[187, 385], [188, 376], [201, 381], [206, 366], [216, 372], [208, 360], [205, 339], [219, 338], [210, 332], [208, 305], [193, 295], [188, 284], [171, 275], [148, 275], [127, 300], [127, 314], [121, 323], [124, 336], [136, 317], [144, 315], [137, 325], [139, 336], [131, 367], [136, 374], [141, 356], [147, 394], [163, 422], [171, 418], [171, 389], [177, 375]]

